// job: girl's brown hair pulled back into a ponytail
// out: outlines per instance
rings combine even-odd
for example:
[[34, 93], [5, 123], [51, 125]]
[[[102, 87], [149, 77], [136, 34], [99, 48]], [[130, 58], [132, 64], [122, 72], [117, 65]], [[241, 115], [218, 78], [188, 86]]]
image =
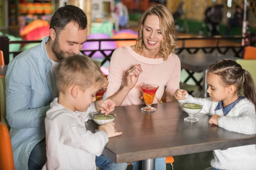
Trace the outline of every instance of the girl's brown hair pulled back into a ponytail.
[[235, 85], [238, 94], [243, 94], [256, 106], [253, 77], [240, 64], [231, 59], [221, 59], [208, 67], [208, 73], [218, 75], [224, 87]]

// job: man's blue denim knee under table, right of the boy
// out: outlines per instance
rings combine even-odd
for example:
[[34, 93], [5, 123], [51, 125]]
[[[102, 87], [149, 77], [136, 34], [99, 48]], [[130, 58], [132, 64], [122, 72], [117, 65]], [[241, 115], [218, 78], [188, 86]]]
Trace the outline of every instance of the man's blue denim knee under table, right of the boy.
[[96, 166], [101, 167], [102, 170], [126, 170], [127, 163], [116, 164], [105, 155], [96, 156]]

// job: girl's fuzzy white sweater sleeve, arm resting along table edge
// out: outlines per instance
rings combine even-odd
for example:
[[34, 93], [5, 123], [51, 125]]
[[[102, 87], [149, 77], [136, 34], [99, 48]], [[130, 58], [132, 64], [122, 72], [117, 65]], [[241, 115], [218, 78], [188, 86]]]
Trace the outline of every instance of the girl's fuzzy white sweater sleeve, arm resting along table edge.
[[[247, 100], [247, 99], [243, 99]], [[235, 105], [231, 111], [239, 111], [239, 116], [221, 116], [218, 126], [226, 130], [244, 133], [247, 135], [256, 133], [256, 113], [255, 106], [249, 102], [241, 101], [242, 105]]]

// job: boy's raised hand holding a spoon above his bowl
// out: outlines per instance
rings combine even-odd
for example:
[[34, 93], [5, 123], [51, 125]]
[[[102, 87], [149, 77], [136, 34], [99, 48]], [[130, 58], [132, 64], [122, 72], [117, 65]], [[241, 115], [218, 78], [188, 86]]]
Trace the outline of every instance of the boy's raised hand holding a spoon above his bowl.
[[95, 110], [97, 112], [105, 113], [105, 115], [111, 113], [115, 109], [115, 102], [111, 99], [98, 100], [95, 102]]

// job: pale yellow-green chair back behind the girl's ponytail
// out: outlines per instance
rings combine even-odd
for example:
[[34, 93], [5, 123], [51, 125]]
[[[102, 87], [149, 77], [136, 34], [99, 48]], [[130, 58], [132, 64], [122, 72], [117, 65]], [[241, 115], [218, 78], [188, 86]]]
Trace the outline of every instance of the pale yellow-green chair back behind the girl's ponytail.
[[250, 72], [253, 77], [253, 82], [256, 86], [256, 59], [237, 59], [236, 62], [240, 64], [244, 70]]

